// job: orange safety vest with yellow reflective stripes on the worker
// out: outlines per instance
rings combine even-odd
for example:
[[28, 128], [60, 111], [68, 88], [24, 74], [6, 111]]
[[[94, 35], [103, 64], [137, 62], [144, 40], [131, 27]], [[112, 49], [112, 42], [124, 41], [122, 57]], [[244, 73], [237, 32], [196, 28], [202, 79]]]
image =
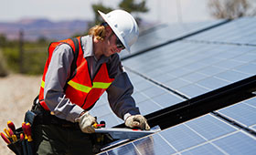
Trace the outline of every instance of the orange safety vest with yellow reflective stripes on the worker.
[[[108, 69], [106, 63], [103, 63], [95, 74], [95, 77], [91, 79], [89, 73], [88, 62], [86, 58], [83, 57], [83, 51], [80, 46], [80, 36], [77, 37], [78, 44], [74, 43], [74, 39], [61, 40], [59, 42], [51, 43], [48, 47], [48, 60], [44, 69], [44, 74], [42, 78], [42, 83], [39, 92], [39, 103], [44, 109], [48, 110], [48, 106], [44, 101], [44, 88], [45, 88], [45, 77], [48, 72], [48, 65], [51, 61], [52, 54], [55, 47], [61, 44], [68, 44], [74, 53], [74, 60], [72, 66], [74, 65], [74, 76], [69, 78], [66, 87], [64, 88], [66, 98], [69, 98], [71, 103], [77, 104], [82, 109], [89, 109], [96, 103], [96, 101], [101, 97], [104, 91], [110, 87], [114, 78], [109, 77]], [[74, 41], [73, 41], [74, 40]]]

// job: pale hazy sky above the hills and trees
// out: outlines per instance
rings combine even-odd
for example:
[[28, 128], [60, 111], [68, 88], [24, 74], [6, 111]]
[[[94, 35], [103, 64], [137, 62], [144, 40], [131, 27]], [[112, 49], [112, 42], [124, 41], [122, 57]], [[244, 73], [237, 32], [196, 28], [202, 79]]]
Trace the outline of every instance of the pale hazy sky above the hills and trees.
[[[121, 0], [1, 0], [0, 22], [15, 22], [24, 18], [92, 20], [91, 5], [100, 2], [118, 8]], [[146, 4], [149, 12], [139, 14], [146, 21], [189, 23], [213, 20], [208, 13], [208, 0], [146, 0]]]

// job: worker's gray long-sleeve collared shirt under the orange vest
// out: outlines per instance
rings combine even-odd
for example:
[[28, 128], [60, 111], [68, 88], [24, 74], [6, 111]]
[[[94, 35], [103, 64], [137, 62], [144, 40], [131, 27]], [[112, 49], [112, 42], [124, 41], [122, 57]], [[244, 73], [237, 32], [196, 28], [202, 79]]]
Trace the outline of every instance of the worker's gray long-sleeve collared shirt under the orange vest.
[[[91, 68], [91, 78], [95, 76], [102, 63], [108, 64], [109, 75], [111, 78], [115, 78], [112, 85], [106, 90], [114, 113], [121, 119], [127, 114], [139, 114], [139, 109], [135, 107], [135, 102], [131, 97], [133, 85], [127, 74], [123, 72], [118, 54], [113, 54], [111, 57], [102, 56], [97, 60], [93, 53], [92, 44], [92, 36], [81, 37], [83, 56], [87, 59], [89, 68]], [[83, 111], [79, 106], [71, 103], [64, 92], [64, 87], [71, 74], [70, 66], [73, 58], [72, 49], [68, 45], [63, 44], [55, 48], [48, 66], [44, 90], [45, 102], [50, 111], [53, 111], [55, 116], [60, 119], [67, 119], [71, 122], [74, 122]]]

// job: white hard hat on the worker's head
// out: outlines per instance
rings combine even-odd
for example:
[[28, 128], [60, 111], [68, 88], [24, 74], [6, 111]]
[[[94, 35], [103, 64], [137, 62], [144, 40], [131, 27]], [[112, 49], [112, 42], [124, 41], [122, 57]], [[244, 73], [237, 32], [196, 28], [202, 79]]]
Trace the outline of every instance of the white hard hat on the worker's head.
[[123, 10], [113, 10], [108, 14], [99, 11], [99, 14], [109, 26], [114, 34], [121, 40], [126, 50], [130, 52], [130, 47], [137, 41], [139, 27], [133, 15]]

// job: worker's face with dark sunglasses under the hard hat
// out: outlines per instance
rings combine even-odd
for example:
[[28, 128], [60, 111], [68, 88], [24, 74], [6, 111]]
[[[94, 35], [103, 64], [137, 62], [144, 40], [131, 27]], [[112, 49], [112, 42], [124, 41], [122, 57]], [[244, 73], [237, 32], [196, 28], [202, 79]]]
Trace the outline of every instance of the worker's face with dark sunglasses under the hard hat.
[[109, 31], [109, 34], [105, 37], [105, 51], [103, 52], [103, 55], [105, 57], [110, 57], [112, 54], [120, 53], [124, 47], [123, 44], [120, 42], [117, 36], [111, 31]]

